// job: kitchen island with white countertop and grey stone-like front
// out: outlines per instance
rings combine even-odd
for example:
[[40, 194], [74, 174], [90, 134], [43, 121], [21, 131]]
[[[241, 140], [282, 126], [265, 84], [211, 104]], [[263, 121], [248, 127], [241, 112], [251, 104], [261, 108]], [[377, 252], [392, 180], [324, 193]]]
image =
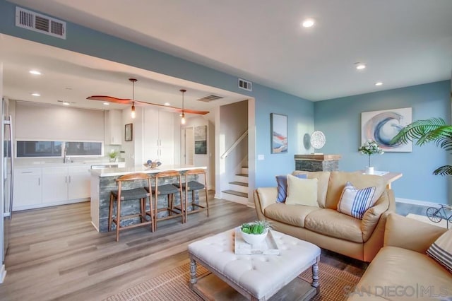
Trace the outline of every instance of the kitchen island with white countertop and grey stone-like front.
[[[117, 167], [117, 168], [102, 168], [97, 170], [90, 170], [91, 172], [91, 223], [99, 232], [108, 231], [108, 211], [109, 211], [109, 200], [110, 191], [117, 190], [116, 179], [122, 175], [128, 175], [134, 172], [145, 172], [152, 177], [153, 174], [158, 172], [165, 172], [167, 170], [177, 170], [183, 175], [187, 170], [195, 169], [206, 169], [206, 166], [192, 166], [192, 165], [160, 165], [157, 168], [148, 168], [144, 165], [135, 167]], [[185, 181], [185, 177], [182, 177], [182, 182]], [[155, 182], [151, 180], [154, 185]], [[159, 181], [159, 184], [160, 181]], [[124, 189], [133, 189], [136, 187], [147, 186], [145, 181], [133, 181], [124, 184]], [[189, 194], [189, 198], [191, 194]], [[198, 198], [196, 194], [196, 198]], [[179, 194], [175, 197], [175, 200], [179, 200]], [[165, 196], [159, 196], [158, 204], [165, 203]], [[148, 210], [148, 208], [147, 208]], [[140, 206], [138, 201], [125, 201], [124, 204], [121, 203], [121, 211], [124, 215], [129, 215], [140, 211]], [[160, 214], [165, 214], [165, 212], [160, 212]], [[139, 223], [139, 218], [126, 220], [126, 223], [133, 224]], [[122, 224], [122, 223], [121, 223]], [[113, 225], [114, 226], [114, 225]]]

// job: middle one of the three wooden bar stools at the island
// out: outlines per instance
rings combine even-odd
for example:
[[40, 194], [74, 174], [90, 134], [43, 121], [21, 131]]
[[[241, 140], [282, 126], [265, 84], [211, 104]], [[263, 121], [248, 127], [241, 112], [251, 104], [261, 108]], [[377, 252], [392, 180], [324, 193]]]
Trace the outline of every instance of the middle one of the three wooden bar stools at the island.
[[[177, 172], [176, 170], [168, 170], [166, 172], [159, 172], [154, 176], [155, 179], [155, 186], [152, 187], [152, 192], [154, 194], [154, 229], [157, 230], [157, 221], [158, 220], [167, 220], [169, 218], [177, 218], [181, 217], [182, 223], [184, 223], [184, 203], [182, 202], [182, 189], [179, 187], [176, 187], [174, 184], [159, 184], [159, 179], [167, 179], [167, 178], [174, 178], [177, 177], [179, 179], [179, 187], [181, 187], [182, 179], [181, 174]], [[147, 190], [149, 191], [148, 187]], [[179, 192], [180, 194], [180, 202], [182, 206], [182, 210], [176, 211], [174, 210], [174, 194]], [[167, 206], [163, 208], [158, 208], [158, 196], [166, 195], [167, 196]], [[167, 211], [168, 215], [163, 216], [162, 218], [158, 217], [158, 213], [160, 211]], [[173, 214], [174, 213], [174, 214]]]

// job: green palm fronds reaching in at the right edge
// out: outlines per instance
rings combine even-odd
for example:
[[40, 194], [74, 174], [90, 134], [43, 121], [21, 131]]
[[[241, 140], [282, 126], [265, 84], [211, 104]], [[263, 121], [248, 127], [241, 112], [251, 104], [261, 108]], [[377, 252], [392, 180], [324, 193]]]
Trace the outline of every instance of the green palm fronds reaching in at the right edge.
[[[452, 126], [446, 124], [444, 119], [430, 118], [424, 120], [417, 120], [405, 126], [398, 134], [391, 140], [391, 145], [397, 143], [408, 143], [409, 141], [416, 141], [417, 146], [422, 146], [425, 143], [434, 142], [436, 146], [443, 148], [445, 151], [452, 151]], [[436, 168], [434, 175], [452, 175], [452, 166], [444, 165]]]

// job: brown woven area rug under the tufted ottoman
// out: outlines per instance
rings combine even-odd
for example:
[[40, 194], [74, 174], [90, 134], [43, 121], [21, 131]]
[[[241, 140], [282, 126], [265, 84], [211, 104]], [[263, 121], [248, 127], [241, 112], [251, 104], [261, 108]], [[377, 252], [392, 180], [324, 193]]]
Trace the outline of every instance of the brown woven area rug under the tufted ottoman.
[[[206, 268], [198, 264], [198, 276], [208, 273]], [[304, 281], [311, 281], [311, 268], [299, 275]], [[183, 300], [198, 301], [201, 297], [189, 288], [190, 264], [174, 268], [141, 284], [112, 295], [104, 301], [144, 301], [144, 300]], [[319, 263], [320, 294], [313, 300], [339, 301], [346, 299], [359, 281], [359, 277], [333, 266]]]

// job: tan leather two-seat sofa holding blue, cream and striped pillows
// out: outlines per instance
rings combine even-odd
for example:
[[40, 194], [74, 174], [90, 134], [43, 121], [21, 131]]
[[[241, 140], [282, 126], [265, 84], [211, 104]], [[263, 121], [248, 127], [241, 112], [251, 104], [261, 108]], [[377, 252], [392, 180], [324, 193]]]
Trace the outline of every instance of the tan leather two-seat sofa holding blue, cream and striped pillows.
[[[268, 220], [274, 230], [312, 242], [362, 261], [371, 261], [383, 246], [386, 216], [395, 211], [393, 191], [376, 175], [361, 172], [301, 172], [318, 179], [319, 207], [276, 203], [278, 189], [263, 187], [254, 191], [258, 219]], [[347, 181], [358, 188], [376, 187], [378, 198], [362, 220], [338, 212], [337, 206]]]

